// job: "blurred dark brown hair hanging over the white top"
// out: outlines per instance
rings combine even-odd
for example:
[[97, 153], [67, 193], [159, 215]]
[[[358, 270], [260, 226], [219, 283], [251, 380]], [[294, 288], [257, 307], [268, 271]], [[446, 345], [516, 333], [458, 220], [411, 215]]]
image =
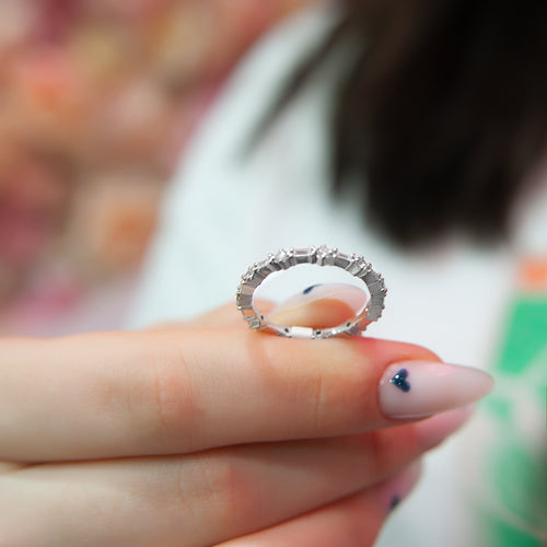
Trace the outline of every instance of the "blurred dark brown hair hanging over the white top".
[[342, 0], [344, 18], [292, 74], [259, 132], [325, 56], [354, 62], [331, 119], [333, 182], [403, 246], [451, 232], [500, 240], [547, 152], [545, 0]]

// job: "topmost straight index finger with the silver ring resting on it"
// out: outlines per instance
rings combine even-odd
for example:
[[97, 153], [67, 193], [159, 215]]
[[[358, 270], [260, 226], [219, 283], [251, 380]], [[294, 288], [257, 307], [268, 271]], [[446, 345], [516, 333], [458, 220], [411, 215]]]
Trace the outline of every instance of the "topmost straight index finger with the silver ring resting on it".
[[[454, 373], [409, 344], [296, 340], [238, 328], [12, 339], [0, 342], [0, 457], [16, 461], [340, 435], [399, 424], [386, 416], [389, 405], [392, 415], [409, 400], [407, 415], [431, 414], [490, 386], [486, 374]], [[389, 382], [400, 370], [410, 392]], [[423, 405], [426, 391], [443, 408]]]

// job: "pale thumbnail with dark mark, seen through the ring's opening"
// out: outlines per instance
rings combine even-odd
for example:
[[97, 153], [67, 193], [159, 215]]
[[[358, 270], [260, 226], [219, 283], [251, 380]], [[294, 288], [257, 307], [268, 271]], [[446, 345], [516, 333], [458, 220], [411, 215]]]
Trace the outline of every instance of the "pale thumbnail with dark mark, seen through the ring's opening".
[[312, 284], [298, 294], [287, 299], [277, 305], [271, 312], [270, 317], [276, 314], [284, 313], [296, 307], [301, 307], [317, 300], [338, 300], [346, 303], [357, 314], [366, 304], [368, 294], [359, 287], [347, 283], [325, 283]]

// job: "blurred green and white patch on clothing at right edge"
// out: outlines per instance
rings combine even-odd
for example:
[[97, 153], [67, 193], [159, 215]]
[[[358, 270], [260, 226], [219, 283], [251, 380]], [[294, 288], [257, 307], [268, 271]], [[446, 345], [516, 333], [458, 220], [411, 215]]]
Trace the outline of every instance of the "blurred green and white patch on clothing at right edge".
[[490, 493], [480, 507], [484, 545], [542, 547], [547, 542], [547, 294], [517, 294], [487, 400], [496, 435], [482, 452]]

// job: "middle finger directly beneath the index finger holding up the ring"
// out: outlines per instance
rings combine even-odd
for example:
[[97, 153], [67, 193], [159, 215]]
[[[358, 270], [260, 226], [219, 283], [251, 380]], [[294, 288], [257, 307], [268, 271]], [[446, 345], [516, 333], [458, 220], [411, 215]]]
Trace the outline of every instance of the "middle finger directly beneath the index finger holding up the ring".
[[0, 529], [5, 545], [212, 545], [383, 480], [456, 429], [466, 415], [454, 412], [346, 438], [28, 467], [0, 477]]

